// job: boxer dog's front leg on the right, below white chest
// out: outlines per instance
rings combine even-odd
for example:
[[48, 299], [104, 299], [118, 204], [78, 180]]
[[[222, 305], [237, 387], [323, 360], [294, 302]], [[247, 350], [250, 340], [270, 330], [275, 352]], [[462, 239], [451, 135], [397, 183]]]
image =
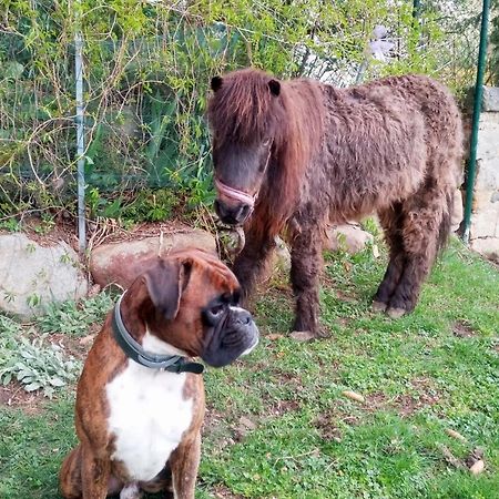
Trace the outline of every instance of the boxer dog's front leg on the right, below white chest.
[[201, 432], [197, 432], [192, 439], [183, 441], [170, 458], [174, 499], [194, 499], [200, 460]]

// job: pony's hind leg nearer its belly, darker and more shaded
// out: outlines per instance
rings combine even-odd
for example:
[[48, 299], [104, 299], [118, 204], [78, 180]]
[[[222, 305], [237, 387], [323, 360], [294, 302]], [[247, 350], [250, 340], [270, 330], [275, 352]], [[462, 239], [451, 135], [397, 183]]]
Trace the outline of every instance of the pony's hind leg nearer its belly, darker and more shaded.
[[376, 312], [385, 312], [400, 279], [405, 263], [401, 205], [397, 203], [379, 212], [378, 215], [389, 248], [389, 262], [381, 284], [373, 298], [373, 308]]

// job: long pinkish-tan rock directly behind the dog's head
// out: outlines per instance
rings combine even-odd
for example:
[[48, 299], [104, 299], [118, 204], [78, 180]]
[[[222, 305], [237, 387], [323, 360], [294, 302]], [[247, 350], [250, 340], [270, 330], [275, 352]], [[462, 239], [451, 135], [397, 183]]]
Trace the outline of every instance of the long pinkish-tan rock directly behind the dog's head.
[[206, 231], [160, 234], [136, 241], [103, 244], [92, 251], [90, 273], [100, 286], [116, 284], [128, 288], [157, 256], [173, 249], [198, 247], [216, 254], [215, 238]]

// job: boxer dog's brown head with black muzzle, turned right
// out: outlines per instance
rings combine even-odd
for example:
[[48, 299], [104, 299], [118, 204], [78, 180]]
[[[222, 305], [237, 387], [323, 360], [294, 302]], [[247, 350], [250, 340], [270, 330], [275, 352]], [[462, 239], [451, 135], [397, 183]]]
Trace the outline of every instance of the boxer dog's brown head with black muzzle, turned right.
[[130, 315], [150, 334], [214, 367], [226, 366], [256, 346], [258, 329], [238, 306], [237, 279], [220, 259], [187, 249], [147, 266], [125, 299], [126, 308], [134, 308]]

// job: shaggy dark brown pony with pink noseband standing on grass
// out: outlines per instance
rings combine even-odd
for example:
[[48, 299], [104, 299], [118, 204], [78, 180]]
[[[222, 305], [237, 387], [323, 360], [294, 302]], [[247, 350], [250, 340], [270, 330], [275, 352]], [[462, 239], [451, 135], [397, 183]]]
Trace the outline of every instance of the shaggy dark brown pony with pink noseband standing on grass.
[[246, 296], [286, 230], [294, 329], [318, 335], [325, 225], [376, 212], [389, 264], [374, 307], [391, 317], [413, 310], [447, 240], [460, 172], [461, 119], [449, 92], [419, 75], [337, 89], [255, 69], [215, 77], [212, 90], [215, 210], [244, 224], [234, 272]]

